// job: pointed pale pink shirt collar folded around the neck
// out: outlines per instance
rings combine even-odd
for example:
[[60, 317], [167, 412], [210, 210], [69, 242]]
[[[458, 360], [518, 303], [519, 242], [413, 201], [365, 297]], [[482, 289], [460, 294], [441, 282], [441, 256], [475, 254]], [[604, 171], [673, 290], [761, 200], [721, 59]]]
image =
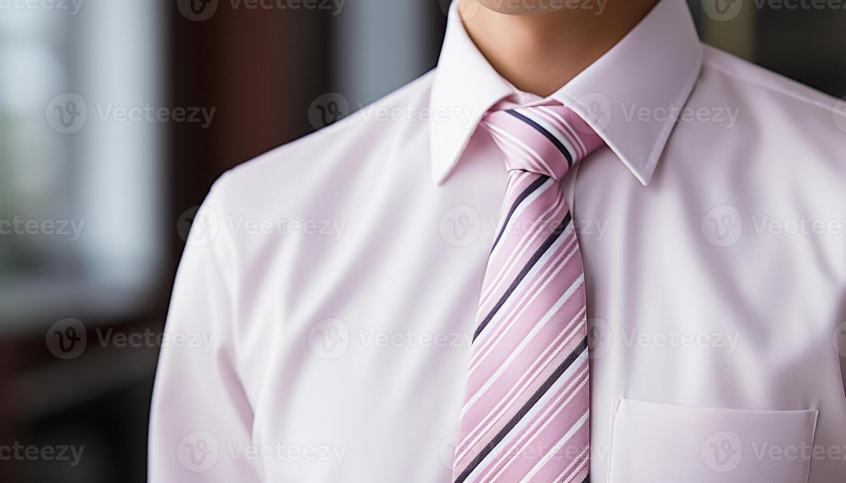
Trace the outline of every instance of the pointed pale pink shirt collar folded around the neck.
[[[506, 96], [526, 98], [475, 47], [457, 4], [450, 8], [431, 85], [433, 113], [460, 114], [432, 117], [431, 173], [438, 184], [452, 172], [488, 109]], [[701, 64], [702, 47], [684, 0], [661, 0], [623, 40], [543, 102], [580, 113], [645, 185], [675, 124], [668, 113], [684, 107]]]

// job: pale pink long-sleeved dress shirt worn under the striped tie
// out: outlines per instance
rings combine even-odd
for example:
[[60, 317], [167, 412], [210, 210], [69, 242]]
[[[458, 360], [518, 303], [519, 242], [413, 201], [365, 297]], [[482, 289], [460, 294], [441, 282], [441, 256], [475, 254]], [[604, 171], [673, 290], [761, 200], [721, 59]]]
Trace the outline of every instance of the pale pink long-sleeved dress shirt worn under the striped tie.
[[151, 481], [449, 481], [508, 177], [476, 126], [503, 98], [607, 143], [563, 183], [591, 481], [846, 480], [846, 109], [662, 0], [546, 100], [453, 11], [436, 70], [224, 174], [173, 290]]

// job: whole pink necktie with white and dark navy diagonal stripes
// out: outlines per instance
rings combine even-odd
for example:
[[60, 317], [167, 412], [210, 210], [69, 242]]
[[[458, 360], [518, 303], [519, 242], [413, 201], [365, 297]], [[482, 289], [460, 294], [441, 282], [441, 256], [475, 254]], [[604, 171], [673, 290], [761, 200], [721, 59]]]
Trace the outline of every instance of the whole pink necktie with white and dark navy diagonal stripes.
[[588, 480], [585, 274], [560, 181], [603, 144], [573, 111], [487, 113], [508, 188], [482, 284], [453, 481]]

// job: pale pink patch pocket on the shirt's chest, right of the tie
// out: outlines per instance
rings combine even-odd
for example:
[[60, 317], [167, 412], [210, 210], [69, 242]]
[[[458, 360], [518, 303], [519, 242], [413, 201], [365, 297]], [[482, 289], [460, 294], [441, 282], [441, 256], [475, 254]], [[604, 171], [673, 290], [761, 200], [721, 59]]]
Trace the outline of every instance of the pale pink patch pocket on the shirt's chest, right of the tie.
[[695, 408], [623, 399], [609, 483], [804, 483], [818, 411]]

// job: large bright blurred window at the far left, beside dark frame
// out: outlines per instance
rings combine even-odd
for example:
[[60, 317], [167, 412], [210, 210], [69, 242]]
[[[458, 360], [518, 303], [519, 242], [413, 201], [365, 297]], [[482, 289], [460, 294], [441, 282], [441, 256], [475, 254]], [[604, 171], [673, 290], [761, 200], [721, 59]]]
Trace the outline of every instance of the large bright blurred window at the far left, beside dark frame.
[[119, 114], [166, 107], [160, 8], [0, 5], [0, 305], [12, 323], [126, 310], [151, 285], [165, 131]]

